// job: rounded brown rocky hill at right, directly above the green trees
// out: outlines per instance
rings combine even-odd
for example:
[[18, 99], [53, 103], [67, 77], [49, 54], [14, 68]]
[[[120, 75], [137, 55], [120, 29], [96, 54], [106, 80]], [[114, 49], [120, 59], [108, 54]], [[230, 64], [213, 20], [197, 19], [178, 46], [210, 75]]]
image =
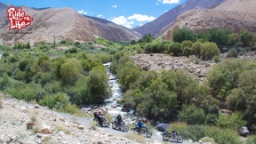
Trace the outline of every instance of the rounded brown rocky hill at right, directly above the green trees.
[[184, 12], [162, 36], [172, 40], [172, 31], [178, 28], [189, 28], [195, 32], [207, 28], [226, 28], [235, 33], [243, 30], [256, 32], [255, 7], [255, 0], [226, 0], [212, 9]]

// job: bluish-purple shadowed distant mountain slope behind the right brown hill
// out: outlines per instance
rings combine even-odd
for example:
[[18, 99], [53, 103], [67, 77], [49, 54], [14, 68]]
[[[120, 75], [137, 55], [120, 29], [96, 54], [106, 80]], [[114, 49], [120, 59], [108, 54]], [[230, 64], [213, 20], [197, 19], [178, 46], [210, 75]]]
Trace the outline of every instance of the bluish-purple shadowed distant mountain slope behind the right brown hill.
[[183, 12], [198, 8], [209, 8], [212, 5], [220, 4], [223, 1], [224, 0], [188, 0], [186, 3], [178, 5], [172, 10], [165, 12], [156, 20], [148, 22], [139, 28], [133, 28], [133, 30], [140, 33], [142, 36], [149, 33], [153, 36], [160, 36], [159, 34], [157, 35], [157, 33], [159, 33], [160, 30], [165, 26], [174, 22], [176, 18]]

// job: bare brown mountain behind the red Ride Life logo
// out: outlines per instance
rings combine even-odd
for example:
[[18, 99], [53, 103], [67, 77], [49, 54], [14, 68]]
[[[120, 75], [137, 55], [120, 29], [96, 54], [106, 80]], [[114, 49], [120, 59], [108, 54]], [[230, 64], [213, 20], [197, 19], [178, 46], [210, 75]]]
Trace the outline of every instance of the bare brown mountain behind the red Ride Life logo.
[[26, 15], [34, 20], [32, 24], [22, 30], [31, 31], [32, 34], [8, 34], [9, 22], [7, 20], [6, 9], [9, 4], [0, 3], [0, 44], [14, 44], [19, 42], [30, 42], [30, 44], [40, 43], [42, 41], [53, 43], [55, 36], [56, 42], [62, 39], [68, 41], [93, 41], [94, 37], [112, 41], [131, 41], [140, 38], [130, 29], [116, 25], [108, 20], [92, 19], [70, 8], [35, 9], [21, 6]]

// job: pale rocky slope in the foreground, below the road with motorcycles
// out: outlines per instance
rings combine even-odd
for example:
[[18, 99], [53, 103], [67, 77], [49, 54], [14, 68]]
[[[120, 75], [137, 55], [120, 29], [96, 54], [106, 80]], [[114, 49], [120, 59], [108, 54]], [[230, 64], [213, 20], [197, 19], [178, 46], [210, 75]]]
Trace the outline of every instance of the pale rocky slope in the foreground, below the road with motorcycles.
[[[3, 94], [0, 97], [3, 97]], [[61, 117], [39, 105], [24, 104], [14, 99], [0, 101], [1, 144], [139, 144], [125, 137], [104, 132], [102, 128], [88, 128], [92, 124], [84, 124], [80, 121], [81, 118], [79, 122], [75, 116]], [[159, 144], [149, 139], [146, 143]]]

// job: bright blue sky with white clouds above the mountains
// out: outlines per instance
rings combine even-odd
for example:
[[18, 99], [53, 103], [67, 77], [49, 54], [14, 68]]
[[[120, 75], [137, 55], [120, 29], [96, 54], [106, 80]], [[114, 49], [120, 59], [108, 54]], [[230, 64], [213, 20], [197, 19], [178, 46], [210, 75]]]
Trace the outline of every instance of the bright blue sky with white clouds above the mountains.
[[155, 20], [187, 0], [0, 0], [4, 4], [28, 7], [69, 7], [88, 16], [99, 17], [127, 28]]

